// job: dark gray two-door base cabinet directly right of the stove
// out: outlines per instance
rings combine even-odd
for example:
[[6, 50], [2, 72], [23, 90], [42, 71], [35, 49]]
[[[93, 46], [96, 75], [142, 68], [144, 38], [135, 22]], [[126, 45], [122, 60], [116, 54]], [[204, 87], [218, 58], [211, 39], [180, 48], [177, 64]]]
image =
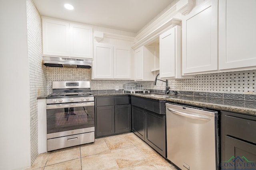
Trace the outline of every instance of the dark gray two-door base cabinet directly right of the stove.
[[131, 131], [130, 96], [95, 97], [96, 137]]

